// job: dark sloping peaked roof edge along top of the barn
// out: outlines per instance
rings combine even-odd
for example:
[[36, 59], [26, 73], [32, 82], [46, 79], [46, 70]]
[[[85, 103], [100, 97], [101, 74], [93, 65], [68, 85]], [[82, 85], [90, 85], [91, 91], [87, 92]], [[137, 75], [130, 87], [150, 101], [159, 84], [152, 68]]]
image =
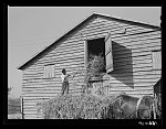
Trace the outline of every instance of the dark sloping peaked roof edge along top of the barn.
[[114, 20], [114, 21], [117, 21], [117, 22], [133, 24], [133, 25], [139, 25], [139, 26], [143, 26], [143, 28], [148, 28], [148, 29], [154, 29], [154, 30], [160, 30], [159, 26], [149, 25], [149, 24], [145, 24], [145, 23], [141, 23], [141, 22], [135, 22], [135, 21], [129, 21], [129, 20], [124, 20], [124, 19], [120, 19], [120, 18], [113, 18], [113, 17], [110, 17], [110, 15], [106, 15], [106, 14], [101, 14], [101, 13], [94, 12], [89, 18], [86, 18], [85, 20], [83, 20], [80, 24], [77, 24], [75, 28], [73, 28], [68, 33], [65, 33], [60, 39], [58, 39], [55, 42], [53, 42], [51, 45], [46, 46], [40, 53], [35, 54], [31, 60], [29, 60], [28, 62], [25, 62], [23, 65], [19, 66], [18, 69], [24, 69], [25, 67], [30, 66], [38, 58], [42, 57], [45, 53], [48, 53], [60, 41], [62, 41], [65, 37], [69, 37], [71, 35], [71, 33], [75, 32], [77, 29], [84, 26], [84, 24], [89, 23], [91, 20], [96, 19], [96, 18], [103, 18], [103, 19], [107, 19], [107, 20]]

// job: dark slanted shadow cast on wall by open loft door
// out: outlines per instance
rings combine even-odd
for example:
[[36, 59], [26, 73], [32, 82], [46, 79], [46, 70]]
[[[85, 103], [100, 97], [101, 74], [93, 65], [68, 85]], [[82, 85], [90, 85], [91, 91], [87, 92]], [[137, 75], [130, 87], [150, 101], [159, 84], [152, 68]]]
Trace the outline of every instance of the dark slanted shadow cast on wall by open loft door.
[[111, 76], [134, 88], [132, 50], [114, 41], [112, 45], [114, 71], [111, 73]]

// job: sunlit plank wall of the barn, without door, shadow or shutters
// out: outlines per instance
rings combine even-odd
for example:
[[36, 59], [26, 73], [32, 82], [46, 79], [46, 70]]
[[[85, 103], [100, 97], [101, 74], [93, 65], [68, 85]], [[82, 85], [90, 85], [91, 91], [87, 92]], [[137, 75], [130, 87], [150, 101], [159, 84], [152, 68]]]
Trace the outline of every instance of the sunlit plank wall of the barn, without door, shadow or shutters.
[[[124, 28], [126, 33], [118, 34]], [[106, 77], [111, 85], [110, 94], [152, 95], [152, 86], [159, 79], [160, 71], [152, 69], [151, 51], [160, 49], [160, 31], [144, 33], [153, 30], [97, 18], [23, 71], [25, 119], [38, 118], [37, 103], [60, 94], [62, 68], [65, 67], [70, 74], [84, 65], [84, 41], [104, 37], [108, 31], [112, 32], [114, 58], [114, 72]], [[55, 77], [43, 78], [46, 64], [55, 64]], [[70, 92], [80, 93], [82, 80], [83, 76], [70, 80]]]

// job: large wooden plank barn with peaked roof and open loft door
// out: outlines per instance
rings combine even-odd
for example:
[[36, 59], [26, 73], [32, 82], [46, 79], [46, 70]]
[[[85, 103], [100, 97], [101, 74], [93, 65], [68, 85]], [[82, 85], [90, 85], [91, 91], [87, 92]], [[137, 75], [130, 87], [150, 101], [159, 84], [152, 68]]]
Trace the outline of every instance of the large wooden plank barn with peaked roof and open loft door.
[[[62, 68], [68, 74], [82, 68], [86, 75], [90, 53], [104, 53], [102, 86], [105, 95], [123, 92], [132, 96], [153, 96], [153, 86], [162, 77], [160, 31], [159, 26], [91, 14], [19, 67], [24, 119], [42, 118], [37, 115], [37, 103], [61, 93]], [[80, 74], [70, 79], [70, 94], [82, 92], [84, 78]], [[97, 82], [91, 84], [94, 90], [98, 86]]]

